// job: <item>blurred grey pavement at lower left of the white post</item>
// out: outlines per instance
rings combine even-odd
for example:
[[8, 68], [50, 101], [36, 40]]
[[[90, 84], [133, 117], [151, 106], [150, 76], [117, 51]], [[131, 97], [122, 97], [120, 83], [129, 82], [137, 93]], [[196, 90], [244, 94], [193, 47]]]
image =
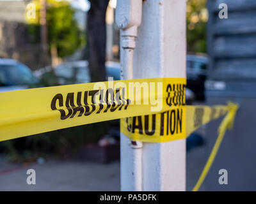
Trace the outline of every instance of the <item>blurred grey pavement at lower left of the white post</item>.
[[[82, 161], [9, 165], [7, 171], [0, 171], [0, 191], [120, 191], [119, 166], [119, 162], [97, 164]], [[26, 182], [29, 168], [36, 171], [35, 185]]]

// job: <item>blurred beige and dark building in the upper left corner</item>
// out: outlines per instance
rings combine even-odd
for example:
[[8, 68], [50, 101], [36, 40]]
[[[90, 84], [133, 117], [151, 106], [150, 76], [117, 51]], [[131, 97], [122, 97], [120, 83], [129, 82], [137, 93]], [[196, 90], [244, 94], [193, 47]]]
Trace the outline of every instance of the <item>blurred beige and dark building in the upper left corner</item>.
[[29, 43], [25, 11], [25, 1], [0, 1], [0, 57], [17, 59], [36, 69], [42, 50]]

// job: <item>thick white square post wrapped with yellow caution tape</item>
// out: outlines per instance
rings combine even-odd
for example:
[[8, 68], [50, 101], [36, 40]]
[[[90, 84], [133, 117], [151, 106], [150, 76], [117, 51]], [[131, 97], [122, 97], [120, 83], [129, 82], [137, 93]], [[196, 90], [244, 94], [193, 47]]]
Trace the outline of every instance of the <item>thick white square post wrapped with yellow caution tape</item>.
[[[133, 78], [156, 77], [186, 77], [186, 0], [143, 1]], [[122, 191], [186, 190], [186, 140], [130, 144], [121, 133]]]

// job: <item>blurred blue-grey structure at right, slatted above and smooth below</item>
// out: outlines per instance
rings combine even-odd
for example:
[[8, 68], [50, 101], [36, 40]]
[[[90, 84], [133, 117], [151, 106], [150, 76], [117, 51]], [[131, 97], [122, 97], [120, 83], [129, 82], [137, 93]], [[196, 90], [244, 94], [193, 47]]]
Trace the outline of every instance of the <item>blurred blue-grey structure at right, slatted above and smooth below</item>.
[[[221, 3], [227, 18], [220, 18]], [[211, 105], [239, 103], [236, 122], [227, 131], [214, 164], [205, 180], [205, 190], [255, 191], [256, 154], [256, 1], [208, 0], [207, 47], [209, 81], [205, 84]], [[205, 156], [216, 140], [220, 120], [209, 124]], [[220, 185], [220, 169], [228, 171], [228, 185]]]

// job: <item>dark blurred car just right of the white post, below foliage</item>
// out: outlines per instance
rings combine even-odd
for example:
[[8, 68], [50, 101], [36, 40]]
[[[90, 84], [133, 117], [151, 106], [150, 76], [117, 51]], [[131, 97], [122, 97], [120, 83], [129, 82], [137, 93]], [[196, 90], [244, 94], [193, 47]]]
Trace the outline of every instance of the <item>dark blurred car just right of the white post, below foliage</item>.
[[205, 80], [208, 59], [203, 55], [187, 55], [187, 87], [195, 94], [196, 101], [205, 100]]

